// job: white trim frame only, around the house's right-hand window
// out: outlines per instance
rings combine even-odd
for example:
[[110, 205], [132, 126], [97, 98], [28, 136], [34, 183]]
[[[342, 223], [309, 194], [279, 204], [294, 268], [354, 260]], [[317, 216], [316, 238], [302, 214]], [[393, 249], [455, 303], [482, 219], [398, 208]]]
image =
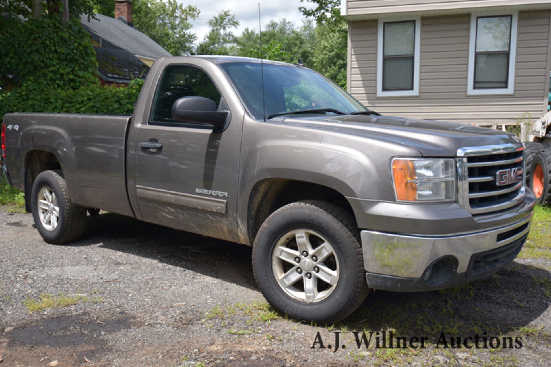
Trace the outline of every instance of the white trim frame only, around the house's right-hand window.
[[[507, 88], [474, 89], [474, 50], [477, 44], [477, 18], [500, 15], [511, 15], [511, 44], [509, 46], [509, 78]], [[518, 10], [512, 12], [487, 12], [471, 14], [471, 38], [469, 40], [469, 73], [467, 95], [491, 95], [515, 93], [516, 44], [518, 33]]]

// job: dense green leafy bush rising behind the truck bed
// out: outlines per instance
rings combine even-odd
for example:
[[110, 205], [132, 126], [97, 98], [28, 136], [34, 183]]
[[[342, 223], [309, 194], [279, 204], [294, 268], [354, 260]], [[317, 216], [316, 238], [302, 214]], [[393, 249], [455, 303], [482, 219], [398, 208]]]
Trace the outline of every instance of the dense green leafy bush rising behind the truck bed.
[[25, 21], [16, 15], [0, 31], [0, 118], [10, 112], [132, 114], [143, 80], [128, 88], [101, 86], [80, 18], [63, 24], [62, 14], [25, 14]]

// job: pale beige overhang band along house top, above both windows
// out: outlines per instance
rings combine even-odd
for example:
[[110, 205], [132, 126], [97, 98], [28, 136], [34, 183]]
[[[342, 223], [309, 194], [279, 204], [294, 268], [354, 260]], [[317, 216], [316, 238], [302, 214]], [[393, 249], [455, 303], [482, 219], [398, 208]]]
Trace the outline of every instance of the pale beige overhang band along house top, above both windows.
[[[347, 0], [346, 15], [350, 17], [371, 14], [410, 13], [410, 12], [456, 12], [472, 9], [506, 8], [545, 9], [549, 8], [548, 0]], [[470, 10], [469, 10], [470, 9]]]

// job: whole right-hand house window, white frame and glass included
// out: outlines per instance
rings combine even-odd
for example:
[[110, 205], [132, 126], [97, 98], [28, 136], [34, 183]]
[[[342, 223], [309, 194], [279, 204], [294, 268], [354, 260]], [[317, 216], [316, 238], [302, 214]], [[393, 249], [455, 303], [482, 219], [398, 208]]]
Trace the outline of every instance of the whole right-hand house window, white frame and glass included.
[[472, 14], [468, 94], [512, 94], [517, 13]]

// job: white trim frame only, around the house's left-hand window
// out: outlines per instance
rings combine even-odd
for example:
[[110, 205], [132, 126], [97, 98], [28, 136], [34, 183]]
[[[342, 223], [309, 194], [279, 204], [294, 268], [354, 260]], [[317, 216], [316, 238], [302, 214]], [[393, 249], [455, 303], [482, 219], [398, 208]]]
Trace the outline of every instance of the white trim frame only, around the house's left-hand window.
[[[393, 21], [415, 20], [415, 45], [413, 49], [413, 90], [382, 90], [383, 24]], [[421, 17], [380, 18], [377, 29], [377, 97], [401, 97], [419, 95], [419, 61], [421, 59]]]

